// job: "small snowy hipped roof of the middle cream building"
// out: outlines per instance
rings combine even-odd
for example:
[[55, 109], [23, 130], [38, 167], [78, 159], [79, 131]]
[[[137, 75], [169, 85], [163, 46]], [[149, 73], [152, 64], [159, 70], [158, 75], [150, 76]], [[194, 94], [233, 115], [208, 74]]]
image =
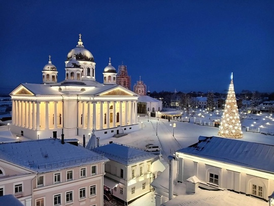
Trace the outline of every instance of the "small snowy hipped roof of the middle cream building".
[[156, 155], [146, 152], [139, 148], [122, 145], [118, 143], [110, 143], [94, 148], [92, 151], [104, 154], [110, 160], [130, 165], [146, 159], [155, 158]]

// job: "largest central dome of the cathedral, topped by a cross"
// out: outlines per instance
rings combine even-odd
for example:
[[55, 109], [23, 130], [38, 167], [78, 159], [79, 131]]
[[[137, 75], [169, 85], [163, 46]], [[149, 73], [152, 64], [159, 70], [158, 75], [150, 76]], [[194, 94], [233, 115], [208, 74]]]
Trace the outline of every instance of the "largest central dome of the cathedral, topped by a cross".
[[81, 33], [79, 35], [79, 42], [76, 48], [72, 49], [70, 52], [68, 52], [66, 59], [70, 60], [75, 55], [76, 60], [83, 60], [83, 61], [92, 61], [94, 62], [93, 55], [85, 49], [83, 42], [81, 40]]

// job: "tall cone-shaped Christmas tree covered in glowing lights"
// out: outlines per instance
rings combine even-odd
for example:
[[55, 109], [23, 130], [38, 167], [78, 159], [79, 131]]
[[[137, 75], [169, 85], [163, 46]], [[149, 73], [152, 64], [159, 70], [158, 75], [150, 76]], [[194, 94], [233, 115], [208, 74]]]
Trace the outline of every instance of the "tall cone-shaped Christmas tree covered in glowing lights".
[[225, 100], [224, 113], [218, 134], [224, 138], [243, 137], [242, 125], [239, 120], [239, 112], [233, 85], [233, 74], [231, 75], [231, 82]]

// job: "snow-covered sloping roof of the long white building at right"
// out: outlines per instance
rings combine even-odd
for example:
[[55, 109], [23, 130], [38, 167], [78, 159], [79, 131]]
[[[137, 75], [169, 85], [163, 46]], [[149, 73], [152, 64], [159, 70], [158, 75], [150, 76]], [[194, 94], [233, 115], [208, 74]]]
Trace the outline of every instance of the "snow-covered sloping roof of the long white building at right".
[[199, 142], [178, 150], [202, 158], [274, 173], [274, 146], [228, 138], [199, 137]]

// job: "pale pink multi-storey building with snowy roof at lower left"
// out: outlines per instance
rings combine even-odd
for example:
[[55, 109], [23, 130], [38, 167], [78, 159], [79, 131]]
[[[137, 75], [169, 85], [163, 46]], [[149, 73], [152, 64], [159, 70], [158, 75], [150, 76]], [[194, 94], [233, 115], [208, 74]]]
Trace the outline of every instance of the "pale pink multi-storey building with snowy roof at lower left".
[[0, 194], [25, 206], [103, 205], [108, 158], [59, 139], [0, 144]]

